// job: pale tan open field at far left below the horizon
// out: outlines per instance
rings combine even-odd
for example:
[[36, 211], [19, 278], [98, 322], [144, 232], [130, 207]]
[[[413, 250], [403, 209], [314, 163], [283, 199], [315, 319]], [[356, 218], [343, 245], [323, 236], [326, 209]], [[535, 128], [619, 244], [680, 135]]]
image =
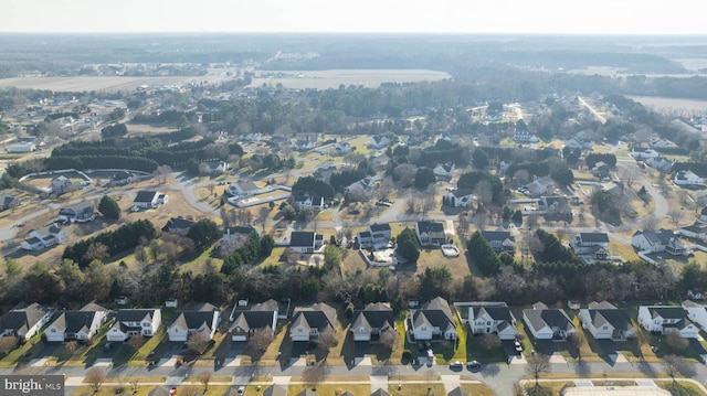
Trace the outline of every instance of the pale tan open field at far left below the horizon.
[[1, 78], [0, 87], [17, 87], [21, 89], [48, 89], [54, 92], [84, 90], [135, 90], [140, 85], [162, 87], [166, 85], [182, 85], [207, 82], [218, 84], [224, 79], [223, 75], [205, 76], [169, 76], [169, 77], [15, 77]]

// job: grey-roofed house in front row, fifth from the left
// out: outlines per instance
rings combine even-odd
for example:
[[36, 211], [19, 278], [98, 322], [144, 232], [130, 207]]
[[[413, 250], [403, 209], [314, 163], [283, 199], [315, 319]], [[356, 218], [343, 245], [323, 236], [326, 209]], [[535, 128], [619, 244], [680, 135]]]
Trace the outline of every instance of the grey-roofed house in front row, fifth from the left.
[[231, 341], [244, 342], [256, 331], [270, 331], [275, 334], [277, 329], [277, 310], [279, 304], [275, 300], [257, 303], [249, 311], [236, 311], [233, 307], [231, 313], [232, 324], [229, 328]]

